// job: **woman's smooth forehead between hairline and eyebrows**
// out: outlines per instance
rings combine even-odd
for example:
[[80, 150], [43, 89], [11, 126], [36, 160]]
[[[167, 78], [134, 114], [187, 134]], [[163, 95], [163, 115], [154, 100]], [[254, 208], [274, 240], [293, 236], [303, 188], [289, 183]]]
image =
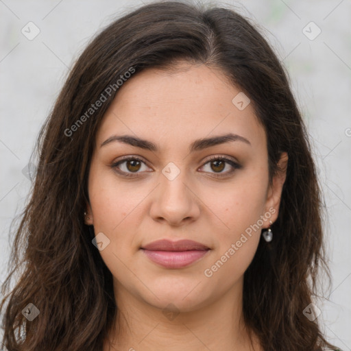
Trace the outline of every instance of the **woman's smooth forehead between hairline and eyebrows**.
[[165, 141], [169, 146], [232, 132], [262, 146], [264, 129], [252, 104], [243, 110], [233, 104], [238, 94], [243, 93], [224, 73], [204, 64], [178, 64], [172, 71], [146, 69], [119, 88], [99, 128], [97, 144], [114, 133], [135, 134], [158, 145]]

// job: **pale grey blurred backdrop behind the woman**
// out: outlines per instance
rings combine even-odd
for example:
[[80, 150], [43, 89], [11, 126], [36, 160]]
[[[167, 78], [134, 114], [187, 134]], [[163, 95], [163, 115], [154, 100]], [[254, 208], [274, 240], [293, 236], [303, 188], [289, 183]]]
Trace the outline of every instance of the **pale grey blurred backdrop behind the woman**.
[[[64, 78], [99, 29], [143, 3], [148, 1], [0, 0], [1, 281], [10, 256], [10, 223], [29, 192], [29, 156]], [[216, 3], [234, 5], [257, 23], [291, 77], [328, 210], [332, 287], [317, 305], [319, 317], [328, 339], [351, 350], [351, 2]]]

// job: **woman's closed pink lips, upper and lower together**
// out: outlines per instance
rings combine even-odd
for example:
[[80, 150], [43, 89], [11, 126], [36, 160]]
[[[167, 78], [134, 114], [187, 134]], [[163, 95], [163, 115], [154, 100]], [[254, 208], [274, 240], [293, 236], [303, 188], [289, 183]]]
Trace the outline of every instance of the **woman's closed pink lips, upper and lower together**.
[[210, 248], [192, 240], [158, 240], [141, 247], [141, 250], [158, 265], [182, 268], [202, 258]]

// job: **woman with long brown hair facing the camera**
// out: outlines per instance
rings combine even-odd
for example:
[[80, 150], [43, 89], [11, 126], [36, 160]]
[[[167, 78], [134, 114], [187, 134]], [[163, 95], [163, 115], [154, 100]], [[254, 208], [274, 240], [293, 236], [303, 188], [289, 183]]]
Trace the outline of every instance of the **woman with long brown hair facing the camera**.
[[313, 303], [328, 267], [306, 129], [242, 16], [163, 2], [115, 21], [38, 150], [8, 350], [335, 350]]

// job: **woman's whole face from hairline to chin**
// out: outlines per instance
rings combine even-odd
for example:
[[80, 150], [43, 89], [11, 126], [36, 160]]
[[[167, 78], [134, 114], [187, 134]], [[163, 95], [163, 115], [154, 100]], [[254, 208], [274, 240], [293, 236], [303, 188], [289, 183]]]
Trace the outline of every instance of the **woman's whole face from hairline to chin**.
[[[242, 282], [285, 175], [269, 186], [265, 130], [252, 104], [234, 99], [241, 90], [208, 66], [180, 67], [120, 88], [97, 132], [86, 223], [103, 233], [117, 295], [191, 311]], [[145, 250], [160, 239], [202, 247]]]

